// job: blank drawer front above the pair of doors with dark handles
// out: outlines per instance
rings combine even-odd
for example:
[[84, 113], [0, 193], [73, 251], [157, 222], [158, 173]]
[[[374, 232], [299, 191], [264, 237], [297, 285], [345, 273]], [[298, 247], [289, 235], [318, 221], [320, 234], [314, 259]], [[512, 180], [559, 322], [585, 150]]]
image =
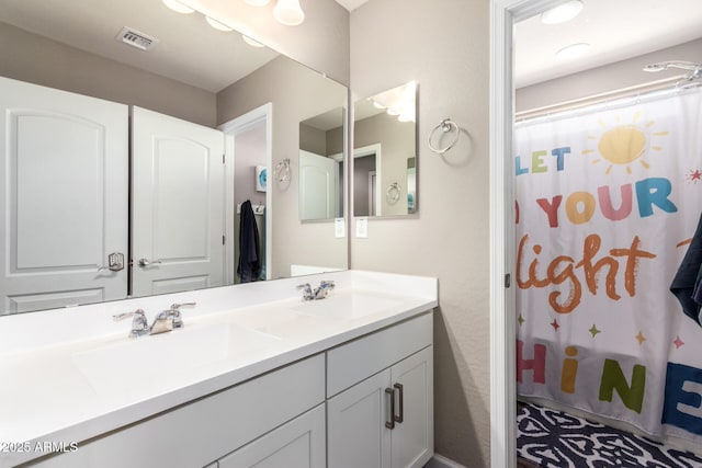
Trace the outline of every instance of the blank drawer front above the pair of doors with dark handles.
[[327, 398], [433, 342], [433, 315], [423, 313], [327, 352]]

